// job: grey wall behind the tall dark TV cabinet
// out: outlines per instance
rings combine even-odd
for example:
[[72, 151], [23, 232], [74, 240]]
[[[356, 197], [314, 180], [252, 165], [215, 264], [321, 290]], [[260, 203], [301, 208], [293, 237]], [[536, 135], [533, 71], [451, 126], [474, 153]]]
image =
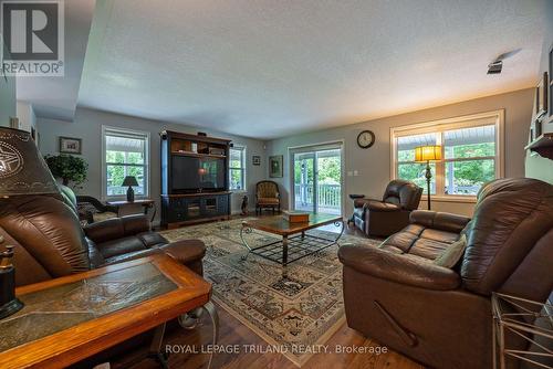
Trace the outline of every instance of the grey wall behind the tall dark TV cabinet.
[[[250, 198], [250, 207], [253, 207], [254, 183], [264, 179], [267, 173], [267, 160], [263, 149], [263, 141], [232, 136], [223, 133], [205, 130], [197, 127], [168, 124], [164, 122], [155, 122], [149, 119], [142, 119], [125, 115], [112, 114], [95, 109], [77, 107], [74, 122], [62, 122], [38, 118], [38, 128], [40, 131], [40, 146], [39, 149], [42, 155], [58, 154], [59, 137], [69, 136], [82, 138], [83, 140], [83, 155], [82, 157], [88, 162], [88, 179], [83, 184], [82, 189], [76, 192], [90, 194], [95, 198], [102, 197], [102, 125], [109, 127], [119, 127], [127, 129], [137, 129], [149, 131], [150, 134], [150, 193], [149, 197], [157, 201], [157, 219], [160, 214], [160, 138], [159, 131], [176, 130], [187, 134], [196, 134], [198, 131], [206, 131], [209, 136], [231, 139], [234, 145], [242, 145], [247, 148], [247, 186], [248, 194]], [[253, 155], [261, 156], [261, 166], [252, 166], [251, 157]], [[246, 193], [232, 194], [231, 211], [237, 212], [240, 210], [241, 198]]]

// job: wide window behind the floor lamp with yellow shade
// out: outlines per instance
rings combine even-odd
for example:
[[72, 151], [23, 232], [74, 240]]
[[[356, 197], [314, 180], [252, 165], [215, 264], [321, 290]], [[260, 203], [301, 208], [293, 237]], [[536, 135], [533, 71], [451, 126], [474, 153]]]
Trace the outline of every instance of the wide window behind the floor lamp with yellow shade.
[[483, 183], [502, 177], [503, 112], [392, 128], [393, 175], [427, 192], [426, 164], [415, 161], [415, 147], [440, 145], [442, 160], [430, 162], [430, 192], [467, 198]]

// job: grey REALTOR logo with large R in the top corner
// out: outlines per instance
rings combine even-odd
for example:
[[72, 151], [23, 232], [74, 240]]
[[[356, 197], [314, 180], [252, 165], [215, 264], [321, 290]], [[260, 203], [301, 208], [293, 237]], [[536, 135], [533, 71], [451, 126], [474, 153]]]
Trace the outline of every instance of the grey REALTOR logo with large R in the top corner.
[[2, 1], [2, 72], [17, 76], [63, 76], [64, 3]]

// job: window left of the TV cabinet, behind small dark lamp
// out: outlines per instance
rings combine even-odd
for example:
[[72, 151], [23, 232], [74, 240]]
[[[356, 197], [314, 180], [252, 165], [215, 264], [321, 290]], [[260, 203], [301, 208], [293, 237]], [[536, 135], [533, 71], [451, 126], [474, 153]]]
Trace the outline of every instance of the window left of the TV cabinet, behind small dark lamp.
[[138, 182], [135, 194], [148, 196], [148, 147], [149, 134], [119, 128], [103, 127], [104, 137], [104, 197], [124, 197], [127, 187], [123, 187], [126, 176], [133, 176]]

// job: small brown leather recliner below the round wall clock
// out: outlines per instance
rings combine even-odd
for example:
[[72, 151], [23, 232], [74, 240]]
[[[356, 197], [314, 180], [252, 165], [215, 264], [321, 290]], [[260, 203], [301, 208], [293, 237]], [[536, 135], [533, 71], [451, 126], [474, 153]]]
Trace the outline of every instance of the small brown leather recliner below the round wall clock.
[[396, 179], [388, 183], [382, 200], [355, 199], [353, 221], [367, 235], [388, 236], [409, 224], [409, 214], [418, 208], [422, 189]]

